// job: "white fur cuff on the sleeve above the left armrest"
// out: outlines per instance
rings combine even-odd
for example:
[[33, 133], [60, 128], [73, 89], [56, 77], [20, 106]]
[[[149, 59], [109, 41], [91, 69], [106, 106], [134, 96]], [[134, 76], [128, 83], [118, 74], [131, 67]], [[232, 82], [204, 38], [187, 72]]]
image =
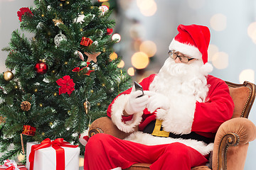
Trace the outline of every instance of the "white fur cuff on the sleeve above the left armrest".
[[122, 94], [118, 96], [114, 103], [112, 104], [112, 113], [111, 113], [111, 119], [114, 125], [117, 125], [117, 128], [119, 130], [122, 130], [123, 132], [133, 132], [135, 126], [139, 125], [142, 121], [142, 114], [143, 112], [140, 113], [134, 113], [132, 116], [132, 120], [129, 120], [127, 122], [122, 121], [122, 115], [124, 111], [124, 106], [128, 102], [130, 94]]

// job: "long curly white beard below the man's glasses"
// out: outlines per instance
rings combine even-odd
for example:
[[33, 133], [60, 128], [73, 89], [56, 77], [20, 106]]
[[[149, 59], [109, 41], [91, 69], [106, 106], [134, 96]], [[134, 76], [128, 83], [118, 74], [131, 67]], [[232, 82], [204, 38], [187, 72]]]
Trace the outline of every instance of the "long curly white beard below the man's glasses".
[[184, 64], [175, 63], [169, 57], [150, 84], [149, 90], [166, 96], [175, 96], [176, 99], [181, 97], [181, 101], [186, 97], [195, 102], [203, 102], [206, 100], [208, 86], [206, 73], [201, 72], [202, 66], [201, 60]]

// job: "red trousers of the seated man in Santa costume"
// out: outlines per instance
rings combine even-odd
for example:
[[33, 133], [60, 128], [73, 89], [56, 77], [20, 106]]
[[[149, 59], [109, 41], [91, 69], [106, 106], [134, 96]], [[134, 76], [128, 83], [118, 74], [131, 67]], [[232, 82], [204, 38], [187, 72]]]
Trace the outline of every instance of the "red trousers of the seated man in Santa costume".
[[135, 163], [148, 163], [150, 169], [188, 170], [206, 162], [196, 149], [179, 142], [148, 146], [101, 133], [90, 137], [85, 146], [84, 169], [127, 169]]

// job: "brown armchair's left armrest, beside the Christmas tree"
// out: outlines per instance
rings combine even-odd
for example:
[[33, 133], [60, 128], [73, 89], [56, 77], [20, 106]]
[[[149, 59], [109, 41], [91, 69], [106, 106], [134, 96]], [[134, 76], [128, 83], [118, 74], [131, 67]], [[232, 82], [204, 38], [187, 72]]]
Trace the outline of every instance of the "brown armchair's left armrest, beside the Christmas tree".
[[97, 133], [106, 133], [112, 135], [114, 137], [118, 137], [123, 140], [125, 137], [129, 136], [131, 133], [122, 132], [117, 128], [116, 125], [112, 122], [109, 117], [102, 117], [95, 120], [92, 125], [90, 125], [89, 129], [89, 137], [95, 135]]

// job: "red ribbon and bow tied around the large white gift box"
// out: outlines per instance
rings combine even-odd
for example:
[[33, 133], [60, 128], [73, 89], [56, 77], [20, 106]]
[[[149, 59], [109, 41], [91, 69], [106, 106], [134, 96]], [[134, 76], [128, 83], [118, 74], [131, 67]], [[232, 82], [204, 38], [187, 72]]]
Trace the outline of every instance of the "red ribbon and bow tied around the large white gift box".
[[33, 170], [33, 163], [35, 158], [35, 151], [52, 146], [56, 152], [56, 169], [65, 170], [65, 150], [62, 147], [78, 147], [78, 145], [70, 145], [69, 142], [65, 142], [63, 138], [58, 138], [51, 142], [49, 138], [43, 140], [41, 144], [33, 145], [31, 147], [31, 153], [29, 154], [30, 170]]

